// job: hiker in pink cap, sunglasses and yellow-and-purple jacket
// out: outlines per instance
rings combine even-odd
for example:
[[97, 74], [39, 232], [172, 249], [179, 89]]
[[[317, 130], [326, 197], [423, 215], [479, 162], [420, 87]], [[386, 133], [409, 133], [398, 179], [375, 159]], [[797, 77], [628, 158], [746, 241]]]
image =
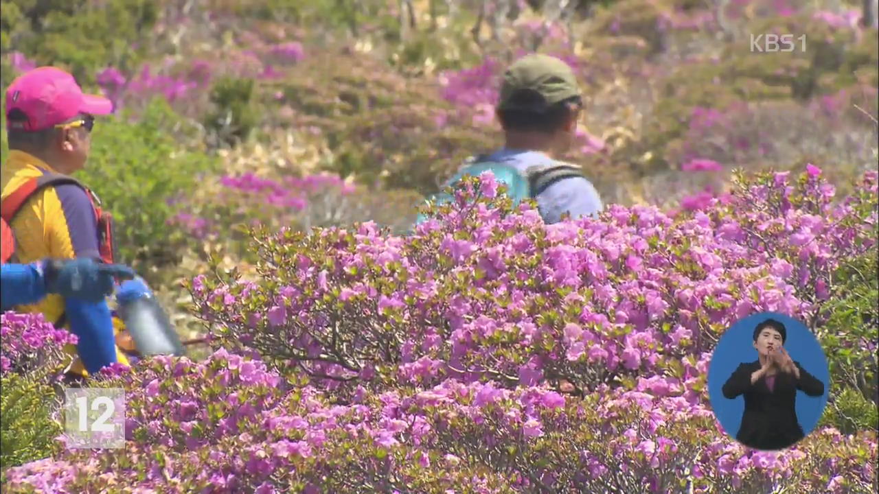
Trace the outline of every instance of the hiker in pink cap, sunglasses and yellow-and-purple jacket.
[[[82, 170], [91, 149], [95, 116], [113, 112], [110, 100], [83, 93], [73, 76], [40, 67], [18, 76], [6, 90], [10, 153], [0, 173], [4, 228], [14, 236], [14, 259], [91, 258], [113, 264], [113, 222], [89, 189], [70, 177]], [[5, 260], [4, 260], [5, 261]], [[113, 362], [127, 364], [116, 345], [113, 316], [98, 302], [50, 294], [20, 312], [41, 312], [76, 334], [68, 348], [74, 377]]]

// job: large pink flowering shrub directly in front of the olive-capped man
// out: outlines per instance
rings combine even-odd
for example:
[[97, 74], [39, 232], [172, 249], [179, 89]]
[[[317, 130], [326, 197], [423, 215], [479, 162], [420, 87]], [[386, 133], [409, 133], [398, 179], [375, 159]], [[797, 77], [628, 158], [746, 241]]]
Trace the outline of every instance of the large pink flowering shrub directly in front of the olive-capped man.
[[585, 392], [704, 352], [754, 311], [820, 323], [839, 259], [875, 244], [875, 186], [869, 173], [834, 202], [810, 166], [679, 218], [611, 206], [547, 228], [486, 181], [475, 206], [460, 197], [414, 236], [282, 231], [257, 244], [260, 282], [199, 278], [193, 294], [224, 345], [331, 389], [454, 377]]

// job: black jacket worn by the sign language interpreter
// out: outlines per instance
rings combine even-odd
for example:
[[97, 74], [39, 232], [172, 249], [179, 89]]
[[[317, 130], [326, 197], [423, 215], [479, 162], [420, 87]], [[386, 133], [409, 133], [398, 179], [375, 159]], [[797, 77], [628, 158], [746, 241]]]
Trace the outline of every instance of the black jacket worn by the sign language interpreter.
[[745, 413], [738, 428], [738, 442], [755, 449], [784, 449], [803, 439], [803, 427], [796, 418], [796, 390], [808, 396], [823, 396], [825, 385], [803, 370], [799, 362], [800, 379], [794, 374], [779, 371], [775, 374], [774, 390], [766, 386], [766, 376], [751, 384], [751, 374], [759, 370], [759, 360], [738, 366], [723, 384], [723, 396], [733, 399], [745, 395]]

